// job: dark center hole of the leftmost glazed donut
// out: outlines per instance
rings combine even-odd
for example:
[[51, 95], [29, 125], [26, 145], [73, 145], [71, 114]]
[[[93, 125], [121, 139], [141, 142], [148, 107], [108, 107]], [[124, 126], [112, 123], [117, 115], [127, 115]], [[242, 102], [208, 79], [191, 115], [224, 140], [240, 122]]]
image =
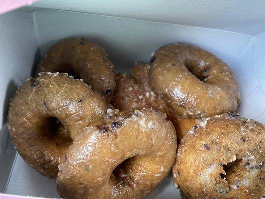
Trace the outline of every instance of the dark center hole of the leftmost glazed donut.
[[56, 117], [48, 117], [42, 128], [45, 138], [56, 147], [69, 146], [72, 143], [68, 129]]

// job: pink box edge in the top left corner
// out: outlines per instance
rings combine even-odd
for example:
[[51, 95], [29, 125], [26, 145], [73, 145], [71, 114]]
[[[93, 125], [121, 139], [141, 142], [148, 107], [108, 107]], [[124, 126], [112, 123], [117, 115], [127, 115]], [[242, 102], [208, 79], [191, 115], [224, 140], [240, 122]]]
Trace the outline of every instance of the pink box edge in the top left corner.
[[0, 14], [25, 5], [30, 5], [35, 1], [38, 0], [0, 0]]

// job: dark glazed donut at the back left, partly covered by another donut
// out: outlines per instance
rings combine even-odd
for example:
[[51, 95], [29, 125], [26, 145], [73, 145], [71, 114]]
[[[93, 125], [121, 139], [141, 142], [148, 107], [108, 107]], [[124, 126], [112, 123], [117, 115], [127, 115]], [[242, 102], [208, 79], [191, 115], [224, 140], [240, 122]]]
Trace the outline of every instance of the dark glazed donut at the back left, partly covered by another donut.
[[40, 72], [68, 73], [99, 92], [108, 102], [115, 88], [115, 69], [105, 50], [85, 38], [70, 38], [53, 46], [42, 58]]

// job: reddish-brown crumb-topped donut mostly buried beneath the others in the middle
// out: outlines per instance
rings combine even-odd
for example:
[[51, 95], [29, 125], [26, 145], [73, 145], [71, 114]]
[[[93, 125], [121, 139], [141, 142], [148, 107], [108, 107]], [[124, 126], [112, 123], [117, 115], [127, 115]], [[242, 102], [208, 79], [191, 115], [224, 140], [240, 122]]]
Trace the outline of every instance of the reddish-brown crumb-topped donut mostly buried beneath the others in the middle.
[[116, 75], [116, 88], [111, 104], [121, 111], [135, 108], [154, 108], [167, 115], [177, 132], [178, 142], [199, 122], [175, 113], [151, 88], [149, 82], [150, 66], [138, 63], [131, 69], [132, 78], [125, 74]]

